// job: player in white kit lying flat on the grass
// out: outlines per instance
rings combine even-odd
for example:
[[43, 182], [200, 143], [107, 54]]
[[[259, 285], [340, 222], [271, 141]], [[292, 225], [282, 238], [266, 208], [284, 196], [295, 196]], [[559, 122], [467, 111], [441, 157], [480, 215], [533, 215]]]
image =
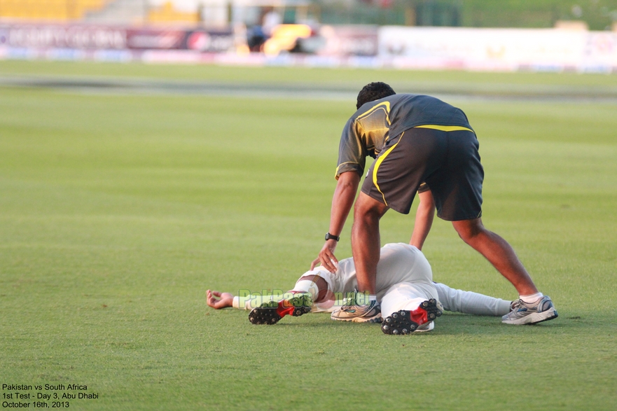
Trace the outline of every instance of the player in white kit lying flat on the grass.
[[[386, 244], [377, 264], [377, 299], [382, 305], [382, 330], [387, 334], [408, 334], [434, 328], [432, 320], [442, 310], [466, 314], [501, 316], [511, 310], [511, 302], [487, 295], [460, 291], [433, 282], [431, 265], [422, 251], [410, 244]], [[274, 324], [283, 316], [300, 316], [307, 312], [331, 312], [333, 320], [365, 322], [349, 319], [340, 313], [345, 307], [368, 300], [368, 295], [356, 293], [356, 270], [353, 258], [338, 263], [333, 274], [325, 267], [306, 272], [293, 290], [281, 298], [272, 295], [248, 295], [207, 291], [210, 307], [251, 309], [249, 321], [254, 324]], [[348, 295], [337, 307], [337, 295]], [[373, 320], [370, 322], [380, 322]]]

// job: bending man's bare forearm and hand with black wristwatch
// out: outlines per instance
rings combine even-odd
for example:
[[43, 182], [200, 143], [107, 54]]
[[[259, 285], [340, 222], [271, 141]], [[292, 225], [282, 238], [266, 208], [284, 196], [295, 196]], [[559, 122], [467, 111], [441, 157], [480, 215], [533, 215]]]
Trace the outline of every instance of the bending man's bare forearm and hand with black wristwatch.
[[[332, 197], [332, 209], [330, 211], [330, 230], [328, 232], [331, 235], [340, 236], [345, 221], [347, 221], [347, 216], [349, 216], [349, 210], [352, 209], [356, 199], [359, 183], [360, 176], [356, 172], [345, 172], [338, 176], [338, 183], [336, 183], [336, 189]], [[336, 241], [328, 239], [321, 248], [321, 251], [319, 251], [319, 257], [312, 262], [311, 270], [314, 269], [317, 263], [321, 263], [328, 271], [335, 272], [336, 267], [331, 261], [334, 260], [335, 263], [338, 263], [334, 256], [335, 249]]]

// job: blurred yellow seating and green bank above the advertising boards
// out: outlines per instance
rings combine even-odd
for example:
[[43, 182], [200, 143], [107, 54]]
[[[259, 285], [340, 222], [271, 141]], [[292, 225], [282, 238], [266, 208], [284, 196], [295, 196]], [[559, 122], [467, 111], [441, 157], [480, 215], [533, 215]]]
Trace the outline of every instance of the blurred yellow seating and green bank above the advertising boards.
[[617, 0], [0, 0], [0, 19], [123, 25], [276, 23], [610, 30]]

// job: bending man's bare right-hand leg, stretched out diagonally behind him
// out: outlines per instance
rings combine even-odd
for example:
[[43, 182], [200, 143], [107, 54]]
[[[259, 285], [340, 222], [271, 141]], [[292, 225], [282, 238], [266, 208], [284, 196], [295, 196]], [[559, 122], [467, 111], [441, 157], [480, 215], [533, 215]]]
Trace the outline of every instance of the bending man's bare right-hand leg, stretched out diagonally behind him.
[[480, 218], [452, 221], [452, 225], [463, 241], [485, 256], [497, 271], [512, 283], [520, 295], [538, 292], [512, 246], [499, 235], [487, 230]]

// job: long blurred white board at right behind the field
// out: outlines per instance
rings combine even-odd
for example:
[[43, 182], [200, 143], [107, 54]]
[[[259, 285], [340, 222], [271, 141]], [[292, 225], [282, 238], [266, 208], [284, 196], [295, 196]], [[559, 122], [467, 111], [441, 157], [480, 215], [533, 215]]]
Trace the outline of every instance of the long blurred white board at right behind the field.
[[617, 66], [617, 34], [566, 29], [379, 29], [379, 57], [394, 67], [517, 69]]

